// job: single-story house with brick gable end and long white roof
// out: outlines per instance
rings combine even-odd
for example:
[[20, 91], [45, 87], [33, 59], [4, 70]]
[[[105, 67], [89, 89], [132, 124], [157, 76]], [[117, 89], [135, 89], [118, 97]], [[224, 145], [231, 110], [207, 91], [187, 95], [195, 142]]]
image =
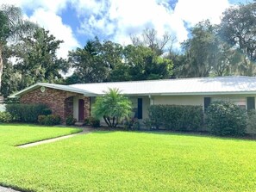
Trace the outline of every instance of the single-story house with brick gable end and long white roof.
[[10, 97], [22, 103], [45, 103], [53, 114], [65, 120], [73, 115], [78, 121], [91, 115], [96, 96], [117, 88], [133, 102], [138, 119], [147, 118], [150, 105], [201, 105], [212, 101], [231, 101], [241, 108], [255, 108], [256, 77], [194, 77], [95, 84], [34, 84]]

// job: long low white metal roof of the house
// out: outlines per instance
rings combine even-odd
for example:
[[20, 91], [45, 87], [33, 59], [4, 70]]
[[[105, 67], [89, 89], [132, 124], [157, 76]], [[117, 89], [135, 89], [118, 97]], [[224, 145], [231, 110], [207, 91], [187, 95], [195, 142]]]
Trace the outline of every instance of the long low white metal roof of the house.
[[256, 77], [196, 77], [134, 82], [96, 83], [96, 84], [34, 84], [12, 96], [45, 86], [58, 90], [72, 91], [84, 96], [103, 95], [104, 91], [117, 88], [124, 95], [223, 95], [256, 94]]

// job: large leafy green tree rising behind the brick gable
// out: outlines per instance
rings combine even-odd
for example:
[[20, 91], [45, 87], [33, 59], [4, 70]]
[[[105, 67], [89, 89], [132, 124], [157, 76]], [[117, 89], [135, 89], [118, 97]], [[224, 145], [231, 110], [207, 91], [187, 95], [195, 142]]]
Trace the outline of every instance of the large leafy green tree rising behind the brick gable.
[[28, 35], [13, 46], [13, 52], [19, 58], [14, 68], [22, 75], [20, 89], [37, 82], [56, 83], [62, 79], [68, 65], [65, 59], [57, 58], [57, 50], [62, 40], [49, 34], [44, 28], [37, 28], [33, 35]]

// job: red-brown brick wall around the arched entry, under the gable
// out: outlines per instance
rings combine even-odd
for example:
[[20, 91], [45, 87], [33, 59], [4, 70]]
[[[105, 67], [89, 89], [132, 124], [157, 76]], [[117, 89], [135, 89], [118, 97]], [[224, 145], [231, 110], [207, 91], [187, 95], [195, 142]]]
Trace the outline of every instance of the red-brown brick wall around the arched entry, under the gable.
[[46, 104], [53, 114], [59, 115], [62, 122], [68, 115], [73, 115], [73, 96], [79, 96], [84, 99], [84, 118], [90, 116], [90, 98], [82, 94], [73, 93], [64, 90], [55, 90], [46, 88], [41, 92], [40, 88], [32, 90], [21, 96], [22, 103], [43, 103]]

